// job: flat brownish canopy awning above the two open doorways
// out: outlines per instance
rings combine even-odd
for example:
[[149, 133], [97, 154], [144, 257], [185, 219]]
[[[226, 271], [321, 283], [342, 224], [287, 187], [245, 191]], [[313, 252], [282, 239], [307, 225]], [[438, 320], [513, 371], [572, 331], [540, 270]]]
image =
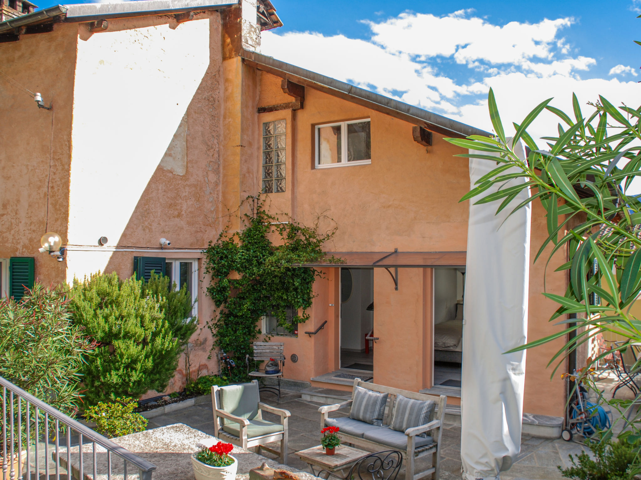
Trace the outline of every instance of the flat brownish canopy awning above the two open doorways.
[[303, 267], [433, 268], [464, 267], [465, 252], [326, 252], [342, 263], [306, 263]]

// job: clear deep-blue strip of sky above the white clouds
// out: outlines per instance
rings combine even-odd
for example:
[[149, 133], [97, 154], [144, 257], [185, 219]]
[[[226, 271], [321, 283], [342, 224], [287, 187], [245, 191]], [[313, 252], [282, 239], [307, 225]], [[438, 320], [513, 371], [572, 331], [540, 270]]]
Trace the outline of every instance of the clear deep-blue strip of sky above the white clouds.
[[[379, 22], [403, 12], [448, 15], [473, 9], [474, 16], [497, 25], [508, 22], [535, 24], [543, 19], [574, 17], [575, 24], [563, 29], [569, 44], [599, 63], [583, 77], [607, 76], [615, 65], [641, 65], [641, 2], [624, 1], [324, 1], [324, 13], [310, 8], [310, 1], [274, 0], [285, 26], [278, 33], [316, 31], [325, 35], [343, 34], [350, 38], [371, 38], [360, 20]], [[604, 7], [607, 5], [607, 7]], [[638, 8], [638, 12], [635, 9]], [[338, 13], [340, 12], [340, 13]], [[338, 14], [337, 14], [338, 13]], [[610, 65], [612, 64], [612, 65]], [[610, 67], [608, 67], [610, 65]]]

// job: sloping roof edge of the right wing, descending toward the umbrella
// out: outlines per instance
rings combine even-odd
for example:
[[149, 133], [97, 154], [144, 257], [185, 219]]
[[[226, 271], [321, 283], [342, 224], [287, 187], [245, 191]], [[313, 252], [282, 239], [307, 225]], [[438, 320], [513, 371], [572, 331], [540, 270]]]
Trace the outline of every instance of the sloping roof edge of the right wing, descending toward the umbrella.
[[490, 132], [456, 122], [437, 113], [415, 107], [410, 104], [390, 99], [385, 95], [370, 92], [364, 88], [359, 88], [349, 83], [342, 82], [331, 77], [326, 77], [310, 70], [305, 70], [296, 65], [276, 60], [260, 53], [242, 51], [241, 56], [244, 61], [254, 67], [269, 72], [281, 78], [286, 78], [294, 83], [298, 83], [320, 92], [328, 93], [350, 102], [371, 108], [372, 110], [387, 115], [400, 118], [414, 125], [419, 125], [430, 131], [440, 133], [445, 136], [465, 138], [470, 135], [492, 136]]

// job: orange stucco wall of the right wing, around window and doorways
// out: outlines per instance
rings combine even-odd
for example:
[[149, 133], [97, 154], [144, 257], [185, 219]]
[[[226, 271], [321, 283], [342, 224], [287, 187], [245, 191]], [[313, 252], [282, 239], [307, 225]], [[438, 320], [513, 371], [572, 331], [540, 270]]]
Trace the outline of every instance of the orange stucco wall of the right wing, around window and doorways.
[[[291, 100], [282, 93], [280, 82], [279, 77], [261, 72], [258, 106]], [[258, 115], [258, 124], [283, 118], [287, 120], [287, 191], [269, 195], [272, 212], [287, 212], [306, 224], [320, 215], [321, 229], [335, 222], [338, 231], [328, 250], [337, 252], [390, 252], [394, 248], [406, 252], [466, 250], [469, 207], [467, 202], [460, 204], [458, 200], [469, 189], [468, 161], [454, 157], [463, 150], [433, 134], [433, 146], [426, 153], [425, 147], [412, 139], [413, 125], [311, 88], [306, 88], [303, 109], [263, 113]], [[313, 126], [356, 118], [371, 119], [372, 163], [315, 169]], [[256, 152], [256, 159], [260, 172], [260, 152]], [[532, 259], [547, 236], [543, 215], [541, 205], [535, 203]], [[557, 264], [562, 263], [562, 255], [559, 252], [551, 265], [556, 260]], [[543, 259], [531, 266], [530, 340], [555, 330], [547, 319], [556, 306], [540, 294], [544, 266]], [[562, 293], [565, 275], [551, 273], [553, 269], [548, 270], [547, 291]], [[374, 330], [376, 337], [380, 337], [374, 347], [376, 383], [409, 390], [432, 386], [432, 278], [431, 269], [399, 269], [399, 290], [395, 291], [387, 271], [374, 269]], [[321, 282], [317, 281], [317, 288]], [[301, 325], [299, 331], [314, 330], [323, 319], [332, 317], [324, 311], [325, 317], [318, 316], [319, 302], [317, 299], [314, 303], [313, 326]], [[338, 294], [329, 303], [337, 305]], [[315, 337], [315, 346], [325, 346], [331, 333], [321, 331]], [[304, 346], [310, 339], [299, 335], [297, 339], [288, 337], [283, 341], [289, 353], [306, 351]], [[551, 381], [551, 369], [546, 369], [560, 342], [528, 353], [525, 412], [563, 415], [563, 384], [556, 377]], [[338, 340], [333, 348], [328, 355], [337, 355]], [[308, 361], [299, 360], [296, 369], [290, 364], [286, 376], [309, 380], [337, 369], [337, 362], [333, 366], [331, 362], [317, 362], [316, 355]], [[458, 403], [458, 399], [451, 397], [450, 402]]]

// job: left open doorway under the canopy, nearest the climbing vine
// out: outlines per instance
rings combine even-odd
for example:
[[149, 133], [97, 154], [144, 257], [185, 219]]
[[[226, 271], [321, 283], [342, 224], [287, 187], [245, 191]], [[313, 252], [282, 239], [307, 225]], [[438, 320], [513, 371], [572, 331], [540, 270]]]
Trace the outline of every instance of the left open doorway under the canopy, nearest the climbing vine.
[[340, 269], [340, 367], [374, 371], [374, 269]]

